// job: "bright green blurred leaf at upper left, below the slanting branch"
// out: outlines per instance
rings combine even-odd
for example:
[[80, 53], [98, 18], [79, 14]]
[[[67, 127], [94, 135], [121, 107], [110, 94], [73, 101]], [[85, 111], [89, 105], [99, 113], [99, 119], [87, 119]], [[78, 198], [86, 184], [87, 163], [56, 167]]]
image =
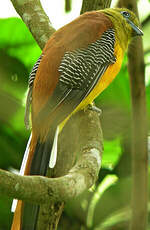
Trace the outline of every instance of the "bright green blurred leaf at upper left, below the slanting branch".
[[41, 50], [19, 18], [0, 19], [0, 49], [31, 68]]

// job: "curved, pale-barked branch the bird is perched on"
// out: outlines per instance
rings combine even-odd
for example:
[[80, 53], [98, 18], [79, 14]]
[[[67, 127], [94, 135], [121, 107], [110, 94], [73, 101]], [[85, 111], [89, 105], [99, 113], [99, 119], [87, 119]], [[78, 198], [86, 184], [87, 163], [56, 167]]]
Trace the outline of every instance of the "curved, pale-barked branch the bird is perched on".
[[[87, 111], [82, 114], [80, 122], [89, 122], [87, 137], [92, 136], [92, 141], [85, 143], [81, 140], [80, 158], [67, 175], [59, 178], [47, 178], [42, 176], [20, 176], [4, 170], [0, 170], [0, 193], [9, 197], [44, 204], [50, 201], [66, 201], [90, 188], [97, 179], [101, 165], [102, 133], [99, 119], [93, 118], [95, 112]], [[95, 116], [95, 115], [94, 115]], [[95, 135], [95, 128], [98, 135]], [[81, 138], [83, 134], [80, 133]]]

